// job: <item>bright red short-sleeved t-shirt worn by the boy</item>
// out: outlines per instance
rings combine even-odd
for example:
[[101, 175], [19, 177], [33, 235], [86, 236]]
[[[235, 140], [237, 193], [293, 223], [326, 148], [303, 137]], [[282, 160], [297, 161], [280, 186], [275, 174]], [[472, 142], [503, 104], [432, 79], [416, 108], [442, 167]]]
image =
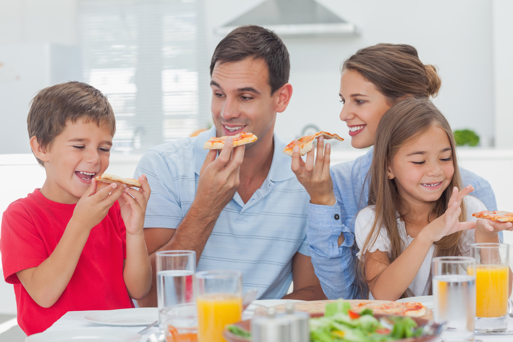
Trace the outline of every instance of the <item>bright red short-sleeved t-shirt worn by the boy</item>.
[[116, 202], [91, 229], [68, 286], [50, 308], [35, 303], [16, 272], [37, 267], [53, 252], [75, 204], [49, 200], [38, 190], [11, 203], [2, 217], [0, 251], [7, 283], [14, 284], [18, 325], [42, 332], [68, 311], [133, 308], [123, 278], [126, 230]]

